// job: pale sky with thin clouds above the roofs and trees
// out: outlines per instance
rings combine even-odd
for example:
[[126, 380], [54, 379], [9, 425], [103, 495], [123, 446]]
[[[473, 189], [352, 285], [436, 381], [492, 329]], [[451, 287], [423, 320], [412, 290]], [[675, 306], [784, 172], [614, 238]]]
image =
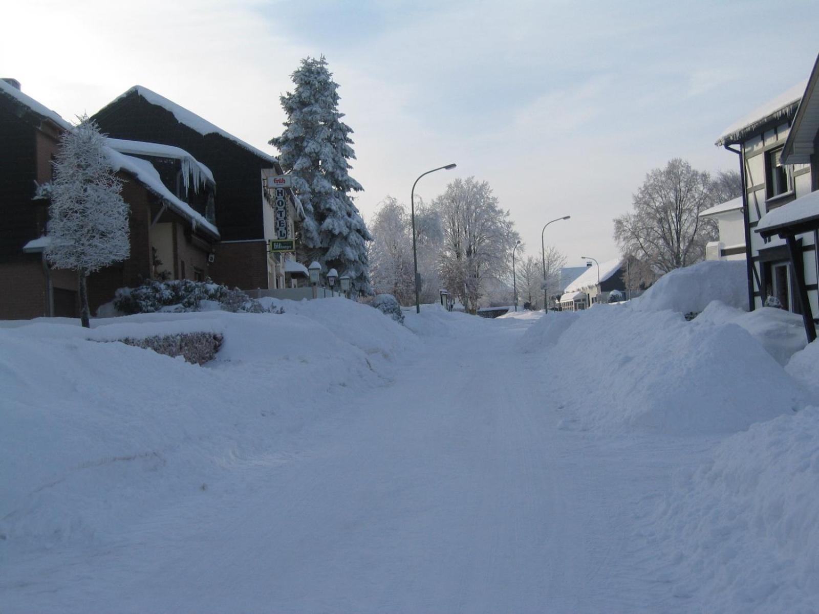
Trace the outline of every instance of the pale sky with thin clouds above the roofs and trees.
[[488, 181], [527, 244], [617, 255], [612, 219], [672, 157], [737, 168], [727, 125], [807, 78], [811, 2], [43, 2], [2, 9], [0, 76], [66, 119], [135, 84], [264, 151], [304, 56], [327, 56], [369, 219], [384, 196]]

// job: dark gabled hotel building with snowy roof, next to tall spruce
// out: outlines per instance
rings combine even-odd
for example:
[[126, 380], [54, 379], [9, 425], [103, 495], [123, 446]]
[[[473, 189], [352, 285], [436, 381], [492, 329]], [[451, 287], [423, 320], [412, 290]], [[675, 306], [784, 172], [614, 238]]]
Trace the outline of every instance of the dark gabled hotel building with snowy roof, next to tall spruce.
[[[265, 175], [282, 174], [274, 156], [139, 85], [97, 111], [93, 119], [113, 138], [189, 151], [201, 162], [201, 174], [210, 173], [218, 188], [215, 199], [195, 207], [219, 227], [221, 240], [210, 264], [215, 282], [245, 290], [286, 287], [286, 260], [292, 255], [269, 251], [269, 242], [280, 238], [274, 204], [267, 200], [263, 184]], [[196, 167], [188, 162], [188, 168]], [[303, 217], [301, 205], [290, 194], [288, 238], [296, 238]]]

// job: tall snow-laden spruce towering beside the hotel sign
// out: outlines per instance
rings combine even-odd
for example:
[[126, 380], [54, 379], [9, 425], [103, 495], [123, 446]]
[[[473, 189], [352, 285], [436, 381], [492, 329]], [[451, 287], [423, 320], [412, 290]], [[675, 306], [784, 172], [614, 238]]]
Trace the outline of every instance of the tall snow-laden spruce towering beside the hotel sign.
[[350, 196], [364, 188], [347, 174], [347, 160], [355, 160], [352, 130], [338, 112], [332, 76], [324, 56], [301, 61], [292, 74], [296, 88], [280, 98], [287, 113], [284, 132], [270, 144], [278, 147], [278, 161], [292, 174], [305, 208], [305, 262], [318, 260], [325, 269], [347, 273], [355, 291], [370, 294], [366, 242], [372, 237]]

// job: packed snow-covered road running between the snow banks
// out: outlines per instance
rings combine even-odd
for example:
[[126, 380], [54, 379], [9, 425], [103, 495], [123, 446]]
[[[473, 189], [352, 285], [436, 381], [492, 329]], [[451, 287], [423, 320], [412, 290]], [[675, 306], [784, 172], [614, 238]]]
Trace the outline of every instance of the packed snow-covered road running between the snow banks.
[[669, 609], [632, 538], [663, 458], [697, 454], [572, 430], [515, 350], [528, 322], [485, 324], [428, 337], [385, 385], [114, 546], [21, 561], [14, 576], [38, 581], [13, 592], [66, 612]]

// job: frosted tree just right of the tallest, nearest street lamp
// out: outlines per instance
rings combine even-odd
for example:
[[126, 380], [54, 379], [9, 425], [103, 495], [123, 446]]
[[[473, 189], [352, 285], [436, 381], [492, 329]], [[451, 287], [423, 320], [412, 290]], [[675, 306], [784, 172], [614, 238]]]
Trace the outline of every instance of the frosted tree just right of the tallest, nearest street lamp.
[[520, 237], [509, 211], [500, 209], [485, 181], [455, 179], [434, 206], [444, 233], [441, 276], [450, 294], [474, 314], [486, 282], [509, 276], [512, 249]]

